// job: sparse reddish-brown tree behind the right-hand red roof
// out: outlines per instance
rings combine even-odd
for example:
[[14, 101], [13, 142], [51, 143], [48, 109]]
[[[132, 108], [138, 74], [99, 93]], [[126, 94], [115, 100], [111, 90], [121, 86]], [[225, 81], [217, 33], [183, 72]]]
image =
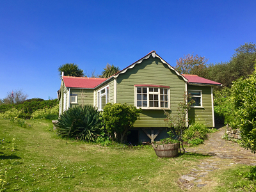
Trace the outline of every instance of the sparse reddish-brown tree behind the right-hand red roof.
[[175, 69], [180, 74], [193, 74], [198, 75], [200, 77], [205, 77], [205, 70], [207, 68], [207, 61], [205, 57], [198, 56], [197, 54], [194, 56], [193, 54], [184, 55], [183, 58], [179, 58], [176, 60]]

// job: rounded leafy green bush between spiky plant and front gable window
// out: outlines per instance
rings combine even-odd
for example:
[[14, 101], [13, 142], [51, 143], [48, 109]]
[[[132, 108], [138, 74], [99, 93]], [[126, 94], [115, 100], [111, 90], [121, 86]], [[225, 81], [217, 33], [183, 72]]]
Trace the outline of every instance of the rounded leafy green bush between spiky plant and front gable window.
[[112, 138], [116, 138], [118, 142], [122, 143], [127, 131], [133, 127], [140, 113], [141, 109], [132, 105], [128, 106], [126, 103], [108, 103], [103, 111], [104, 124]]

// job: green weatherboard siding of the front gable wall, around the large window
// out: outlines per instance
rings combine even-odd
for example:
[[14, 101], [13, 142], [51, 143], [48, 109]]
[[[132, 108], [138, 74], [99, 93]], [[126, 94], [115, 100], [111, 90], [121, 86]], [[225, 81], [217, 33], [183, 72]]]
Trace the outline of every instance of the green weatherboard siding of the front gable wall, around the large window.
[[[186, 89], [186, 83], [182, 77], [177, 76], [159, 58], [152, 56], [116, 78], [116, 102], [134, 105], [134, 97], [136, 97], [134, 84], [170, 86], [172, 114], [176, 113]], [[164, 118], [166, 116], [163, 109], [143, 109], [140, 120], [135, 122], [134, 127], [167, 127]]]

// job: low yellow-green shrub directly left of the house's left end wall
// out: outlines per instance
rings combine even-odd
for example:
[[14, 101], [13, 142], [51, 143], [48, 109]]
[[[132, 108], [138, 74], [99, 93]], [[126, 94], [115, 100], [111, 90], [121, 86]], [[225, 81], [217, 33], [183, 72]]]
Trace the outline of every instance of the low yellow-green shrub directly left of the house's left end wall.
[[33, 119], [45, 118], [45, 119], [58, 119], [59, 116], [59, 105], [49, 109], [38, 109], [31, 114]]

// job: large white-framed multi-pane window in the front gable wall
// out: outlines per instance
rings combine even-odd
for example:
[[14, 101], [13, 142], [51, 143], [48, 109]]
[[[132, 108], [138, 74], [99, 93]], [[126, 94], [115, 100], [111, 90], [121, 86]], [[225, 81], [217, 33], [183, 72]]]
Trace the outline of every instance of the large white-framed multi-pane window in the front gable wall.
[[167, 86], [135, 86], [135, 106], [141, 109], [170, 109], [170, 88]]

